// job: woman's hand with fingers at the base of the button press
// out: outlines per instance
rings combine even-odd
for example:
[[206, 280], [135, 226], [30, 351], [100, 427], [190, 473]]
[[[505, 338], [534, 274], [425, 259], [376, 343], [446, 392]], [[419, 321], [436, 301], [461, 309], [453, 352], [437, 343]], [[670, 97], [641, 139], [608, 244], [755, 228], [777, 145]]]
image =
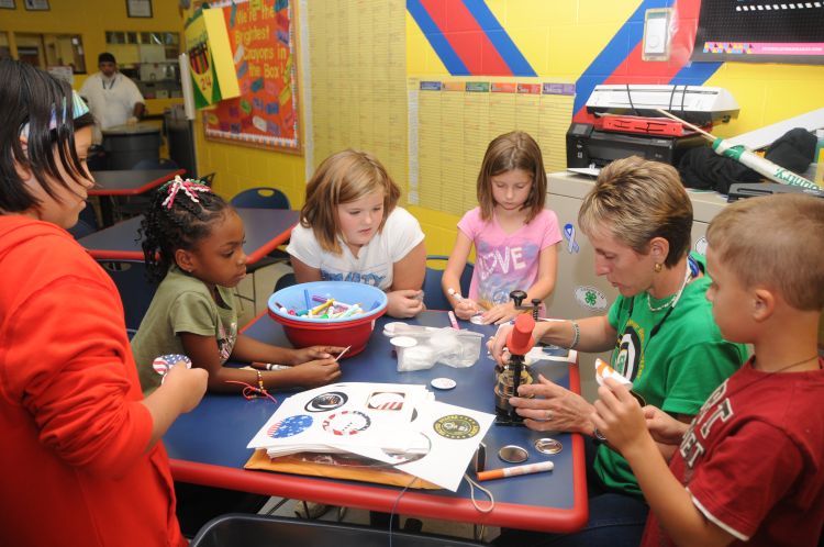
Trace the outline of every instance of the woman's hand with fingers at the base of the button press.
[[517, 393], [521, 397], [510, 398], [510, 404], [530, 429], [591, 433], [592, 405], [543, 375], [538, 375], [538, 383], [520, 386]]

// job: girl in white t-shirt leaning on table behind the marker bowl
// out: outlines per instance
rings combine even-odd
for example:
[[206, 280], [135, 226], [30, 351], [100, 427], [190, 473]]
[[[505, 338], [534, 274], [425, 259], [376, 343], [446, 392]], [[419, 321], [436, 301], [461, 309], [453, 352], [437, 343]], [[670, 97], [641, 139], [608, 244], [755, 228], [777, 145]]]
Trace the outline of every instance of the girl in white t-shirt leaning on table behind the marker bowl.
[[300, 225], [287, 247], [297, 281], [367, 283], [387, 292], [389, 315], [421, 312], [423, 231], [397, 206], [400, 194], [369, 153], [346, 149], [324, 159], [307, 185]]

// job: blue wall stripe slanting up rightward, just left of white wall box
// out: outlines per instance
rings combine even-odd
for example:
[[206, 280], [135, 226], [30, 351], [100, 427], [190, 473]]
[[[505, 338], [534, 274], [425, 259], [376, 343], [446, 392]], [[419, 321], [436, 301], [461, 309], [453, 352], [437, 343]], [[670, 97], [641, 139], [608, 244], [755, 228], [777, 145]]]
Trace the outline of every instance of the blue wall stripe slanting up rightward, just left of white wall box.
[[[581, 74], [575, 85], [575, 107], [572, 115], [587, 103], [595, 85], [603, 82], [625, 59], [627, 54], [644, 37], [644, 12], [652, 8], [667, 8], [672, 0], [644, 0], [630, 19], [621, 26], [619, 32], [610, 40], [606, 47], [598, 54], [598, 57]], [[628, 44], [628, 46], [627, 46]]]

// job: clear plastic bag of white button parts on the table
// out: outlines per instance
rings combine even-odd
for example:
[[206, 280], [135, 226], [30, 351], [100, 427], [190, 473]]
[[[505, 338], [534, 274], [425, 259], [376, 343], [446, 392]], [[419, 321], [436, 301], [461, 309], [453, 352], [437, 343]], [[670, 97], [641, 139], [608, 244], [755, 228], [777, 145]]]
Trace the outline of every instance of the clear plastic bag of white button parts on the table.
[[480, 357], [483, 335], [452, 327], [404, 325], [390, 339], [398, 354], [398, 371], [425, 370], [442, 362], [453, 368], [471, 367]]

